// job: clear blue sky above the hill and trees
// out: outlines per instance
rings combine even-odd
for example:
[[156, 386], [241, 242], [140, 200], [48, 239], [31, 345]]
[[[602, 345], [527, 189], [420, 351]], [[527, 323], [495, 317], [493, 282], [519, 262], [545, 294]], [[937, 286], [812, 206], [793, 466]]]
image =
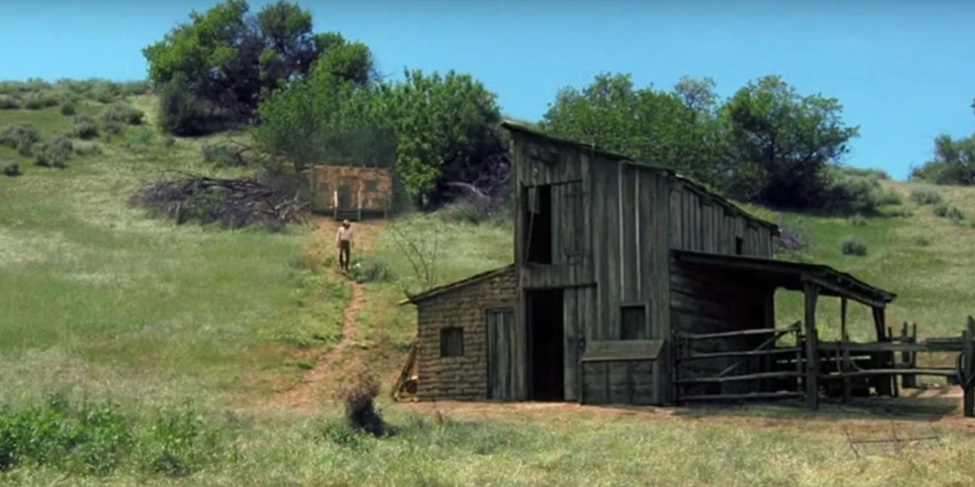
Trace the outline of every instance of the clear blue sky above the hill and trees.
[[[0, 79], [141, 79], [140, 49], [215, 1], [3, 0]], [[266, 2], [252, 1], [257, 10]], [[537, 120], [600, 72], [669, 89], [711, 76], [722, 97], [778, 74], [836, 96], [860, 126], [846, 162], [903, 178], [941, 132], [975, 131], [975, 2], [299, 1], [317, 30], [367, 43], [383, 73], [473, 74], [507, 115]]]

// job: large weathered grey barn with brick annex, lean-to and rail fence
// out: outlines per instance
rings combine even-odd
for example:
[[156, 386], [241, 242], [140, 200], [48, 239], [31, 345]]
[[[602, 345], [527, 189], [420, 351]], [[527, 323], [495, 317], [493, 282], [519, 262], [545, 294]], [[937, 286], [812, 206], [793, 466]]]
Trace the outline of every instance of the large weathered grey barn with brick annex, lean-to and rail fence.
[[[774, 224], [671, 169], [505, 128], [518, 188], [514, 265], [404, 301], [418, 313], [420, 400], [798, 397], [815, 407], [821, 395], [894, 395], [905, 370], [958, 376], [916, 368], [917, 352], [938, 346], [906, 329], [893, 336], [884, 321], [893, 293], [773, 259]], [[795, 324], [776, 324], [781, 290], [804, 295]], [[842, 337], [829, 344], [816, 331], [825, 297], [842, 310]], [[877, 342], [849, 341], [850, 302], [873, 311]]]

